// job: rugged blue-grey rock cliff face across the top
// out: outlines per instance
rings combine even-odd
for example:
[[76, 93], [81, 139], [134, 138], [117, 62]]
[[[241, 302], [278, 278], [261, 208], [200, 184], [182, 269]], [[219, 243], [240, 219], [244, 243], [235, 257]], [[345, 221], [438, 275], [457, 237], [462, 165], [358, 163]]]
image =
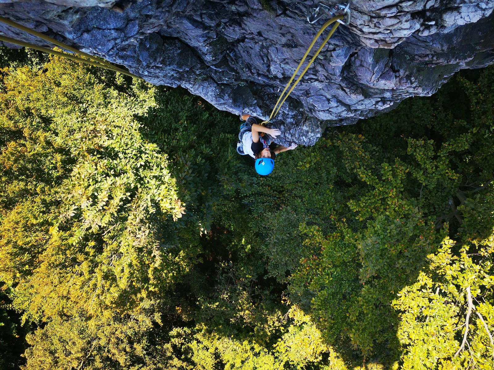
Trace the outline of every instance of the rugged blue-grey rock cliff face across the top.
[[[0, 14], [221, 110], [267, 118], [312, 37], [313, 0], [0, 0]], [[360, 0], [282, 107], [280, 144], [430, 95], [494, 61], [494, 0]], [[46, 42], [0, 23], [0, 32]]]

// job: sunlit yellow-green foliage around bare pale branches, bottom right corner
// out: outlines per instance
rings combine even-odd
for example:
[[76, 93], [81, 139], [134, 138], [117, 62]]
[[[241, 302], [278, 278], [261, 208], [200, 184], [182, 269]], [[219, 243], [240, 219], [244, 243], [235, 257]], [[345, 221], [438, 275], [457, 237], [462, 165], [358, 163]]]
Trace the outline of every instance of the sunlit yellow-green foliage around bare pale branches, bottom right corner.
[[[398, 337], [409, 346], [409, 353], [404, 356], [404, 369], [438, 366], [461, 369], [471, 364], [477, 364], [481, 369], [493, 369], [489, 338], [494, 319], [493, 302], [489, 299], [494, 286], [493, 261], [477, 258], [492, 253], [493, 247], [491, 236], [484, 241], [484, 247], [476, 251], [480, 254], [472, 254], [471, 247], [465, 245], [458, 255], [454, 255], [455, 242], [446, 238], [436, 254], [428, 256], [428, 268], [393, 300], [393, 307], [402, 312]], [[455, 358], [458, 349], [455, 334], [465, 323], [461, 306], [467, 305], [466, 288], [470, 288], [474, 302], [468, 328], [469, 344], [467, 350]], [[484, 298], [486, 294], [487, 299]], [[489, 330], [484, 327], [481, 317]]]

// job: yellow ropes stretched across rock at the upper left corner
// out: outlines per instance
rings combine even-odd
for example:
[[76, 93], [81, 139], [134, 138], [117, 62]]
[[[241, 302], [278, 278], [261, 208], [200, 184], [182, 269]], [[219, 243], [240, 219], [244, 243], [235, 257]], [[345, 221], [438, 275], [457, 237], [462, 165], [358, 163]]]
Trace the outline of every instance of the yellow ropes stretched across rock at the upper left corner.
[[115, 66], [115, 65], [107, 62], [106, 60], [99, 59], [99, 58], [96, 58], [96, 57], [94, 57], [92, 55], [89, 55], [87, 53], [84, 53], [83, 51], [80, 51], [80, 50], [76, 49], [75, 47], [66, 45], [63, 42], [58, 41], [58, 40], [56, 40], [56, 39], [54, 39], [52, 37], [49, 37], [49, 36], [46, 36], [46, 35], [41, 34], [40, 32], [31, 30], [30, 28], [28, 28], [26, 26], [23, 26], [21, 24], [18, 24], [18, 23], [14, 22], [14, 21], [12, 21], [12, 20], [10, 20], [8, 18], [1, 17], [0, 16], [0, 22], [5, 23], [5, 24], [7, 24], [9, 26], [12, 26], [14, 28], [17, 28], [18, 30], [27, 32], [30, 35], [33, 35], [33, 36], [36, 36], [36, 37], [40, 37], [43, 40], [48, 41], [48, 42], [51, 42], [52, 44], [57, 45], [57, 46], [65, 49], [65, 50], [72, 51], [75, 54], [82, 55], [82, 56], [84, 56], [86, 58], [90, 58], [92, 60], [82, 59], [82, 58], [79, 58], [79, 57], [77, 57], [75, 55], [72, 55], [72, 54], [62, 53], [62, 52], [59, 52], [59, 51], [56, 51], [56, 50], [49, 49], [47, 47], [42, 47], [42, 46], [34, 45], [34, 44], [31, 44], [31, 43], [28, 43], [28, 42], [19, 41], [19, 40], [16, 40], [15, 38], [6, 37], [6, 36], [2, 36], [2, 35], [0, 35], [0, 41], [9, 42], [11, 44], [15, 44], [15, 45], [19, 45], [19, 46], [30, 47], [32, 49], [40, 50], [40, 51], [43, 51], [45, 53], [50, 53], [50, 54], [58, 55], [58, 56], [65, 57], [65, 58], [68, 58], [68, 59], [72, 59], [72, 60], [75, 60], [75, 61], [78, 61], [78, 62], [90, 64], [92, 66], [105, 68], [105, 69], [110, 70], [110, 71], [113, 71], [113, 72], [118, 72], [118, 73], [121, 73], [121, 74], [125, 74], [127, 76], [131, 76], [131, 77], [134, 77], [134, 78], [142, 79], [141, 77], [136, 76], [135, 74], [131, 74], [130, 72], [125, 71], [122, 68], [119, 68], [119, 67], [117, 67], [117, 66]]

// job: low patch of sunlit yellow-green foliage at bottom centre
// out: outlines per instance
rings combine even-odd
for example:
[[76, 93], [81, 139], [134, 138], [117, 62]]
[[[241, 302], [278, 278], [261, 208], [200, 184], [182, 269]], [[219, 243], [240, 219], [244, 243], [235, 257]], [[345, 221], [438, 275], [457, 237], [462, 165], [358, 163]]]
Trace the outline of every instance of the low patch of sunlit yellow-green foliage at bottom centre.
[[293, 306], [286, 315], [273, 316], [272, 320], [279, 322], [277, 331], [282, 334], [272, 347], [256, 335], [240, 339], [236, 335], [211, 333], [200, 326], [193, 331], [173, 331], [171, 342], [182, 346], [194, 369], [214, 370], [218, 363], [229, 370], [305, 369], [321, 362], [323, 355], [328, 357], [330, 369], [345, 369], [344, 362], [324, 342], [311, 318], [298, 307]]

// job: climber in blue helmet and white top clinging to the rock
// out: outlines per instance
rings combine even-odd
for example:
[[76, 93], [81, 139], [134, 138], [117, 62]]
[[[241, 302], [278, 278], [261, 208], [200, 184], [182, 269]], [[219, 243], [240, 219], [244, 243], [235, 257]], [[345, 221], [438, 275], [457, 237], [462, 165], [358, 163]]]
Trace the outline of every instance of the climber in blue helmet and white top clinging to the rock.
[[276, 139], [281, 134], [280, 130], [257, 124], [255, 118], [251, 117], [250, 114], [241, 115], [240, 120], [242, 124], [240, 125], [237, 151], [239, 154], [248, 154], [255, 159], [254, 167], [259, 175], [269, 175], [273, 171], [277, 154], [297, 147], [296, 144], [292, 144], [288, 148], [283, 146], [274, 148], [275, 143], [271, 142], [268, 135]]

